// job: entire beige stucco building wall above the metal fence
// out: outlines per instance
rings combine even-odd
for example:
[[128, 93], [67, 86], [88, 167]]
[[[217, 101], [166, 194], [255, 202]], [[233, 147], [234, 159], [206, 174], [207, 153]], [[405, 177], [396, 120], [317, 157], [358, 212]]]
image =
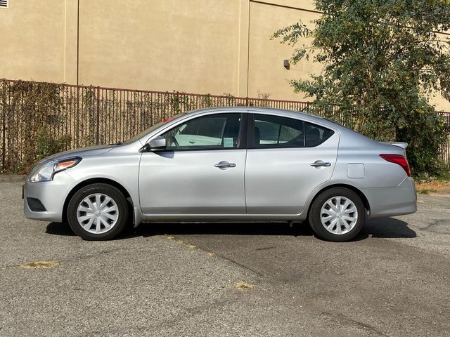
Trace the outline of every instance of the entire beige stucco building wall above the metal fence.
[[293, 48], [269, 37], [319, 15], [311, 0], [11, 0], [0, 8], [0, 78], [305, 100], [288, 79], [321, 67], [285, 70]]

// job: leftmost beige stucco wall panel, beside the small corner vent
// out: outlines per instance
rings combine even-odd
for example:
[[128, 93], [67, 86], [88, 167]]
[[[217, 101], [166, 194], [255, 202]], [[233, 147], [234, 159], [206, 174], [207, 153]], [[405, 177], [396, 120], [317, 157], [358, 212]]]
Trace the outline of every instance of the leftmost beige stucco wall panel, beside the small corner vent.
[[64, 81], [65, 1], [0, 8], [0, 78]]

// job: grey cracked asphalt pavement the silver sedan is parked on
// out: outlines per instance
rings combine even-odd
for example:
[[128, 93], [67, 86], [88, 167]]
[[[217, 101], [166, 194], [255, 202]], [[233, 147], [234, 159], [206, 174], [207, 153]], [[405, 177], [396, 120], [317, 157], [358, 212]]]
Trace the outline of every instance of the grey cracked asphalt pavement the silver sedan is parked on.
[[287, 223], [143, 224], [85, 242], [0, 179], [0, 336], [450, 336], [450, 195], [353, 242]]

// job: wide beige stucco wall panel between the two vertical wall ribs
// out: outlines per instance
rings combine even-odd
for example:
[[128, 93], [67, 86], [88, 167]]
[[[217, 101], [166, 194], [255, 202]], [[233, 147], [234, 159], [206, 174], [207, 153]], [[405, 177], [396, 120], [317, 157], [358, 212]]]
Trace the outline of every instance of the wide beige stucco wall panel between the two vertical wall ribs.
[[80, 1], [80, 84], [236, 93], [239, 0], [126, 2]]

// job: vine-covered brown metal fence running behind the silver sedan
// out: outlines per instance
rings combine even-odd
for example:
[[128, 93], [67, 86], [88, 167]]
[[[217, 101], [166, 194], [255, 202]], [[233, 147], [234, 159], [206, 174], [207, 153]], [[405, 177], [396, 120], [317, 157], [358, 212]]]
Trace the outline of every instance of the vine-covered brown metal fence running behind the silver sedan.
[[[238, 105], [301, 111], [311, 103], [3, 79], [0, 170], [25, 172], [52, 152], [118, 143], [180, 112]], [[348, 124], [335, 113], [335, 120]], [[450, 126], [450, 113], [441, 114]], [[450, 166], [450, 128], [441, 157]]]

